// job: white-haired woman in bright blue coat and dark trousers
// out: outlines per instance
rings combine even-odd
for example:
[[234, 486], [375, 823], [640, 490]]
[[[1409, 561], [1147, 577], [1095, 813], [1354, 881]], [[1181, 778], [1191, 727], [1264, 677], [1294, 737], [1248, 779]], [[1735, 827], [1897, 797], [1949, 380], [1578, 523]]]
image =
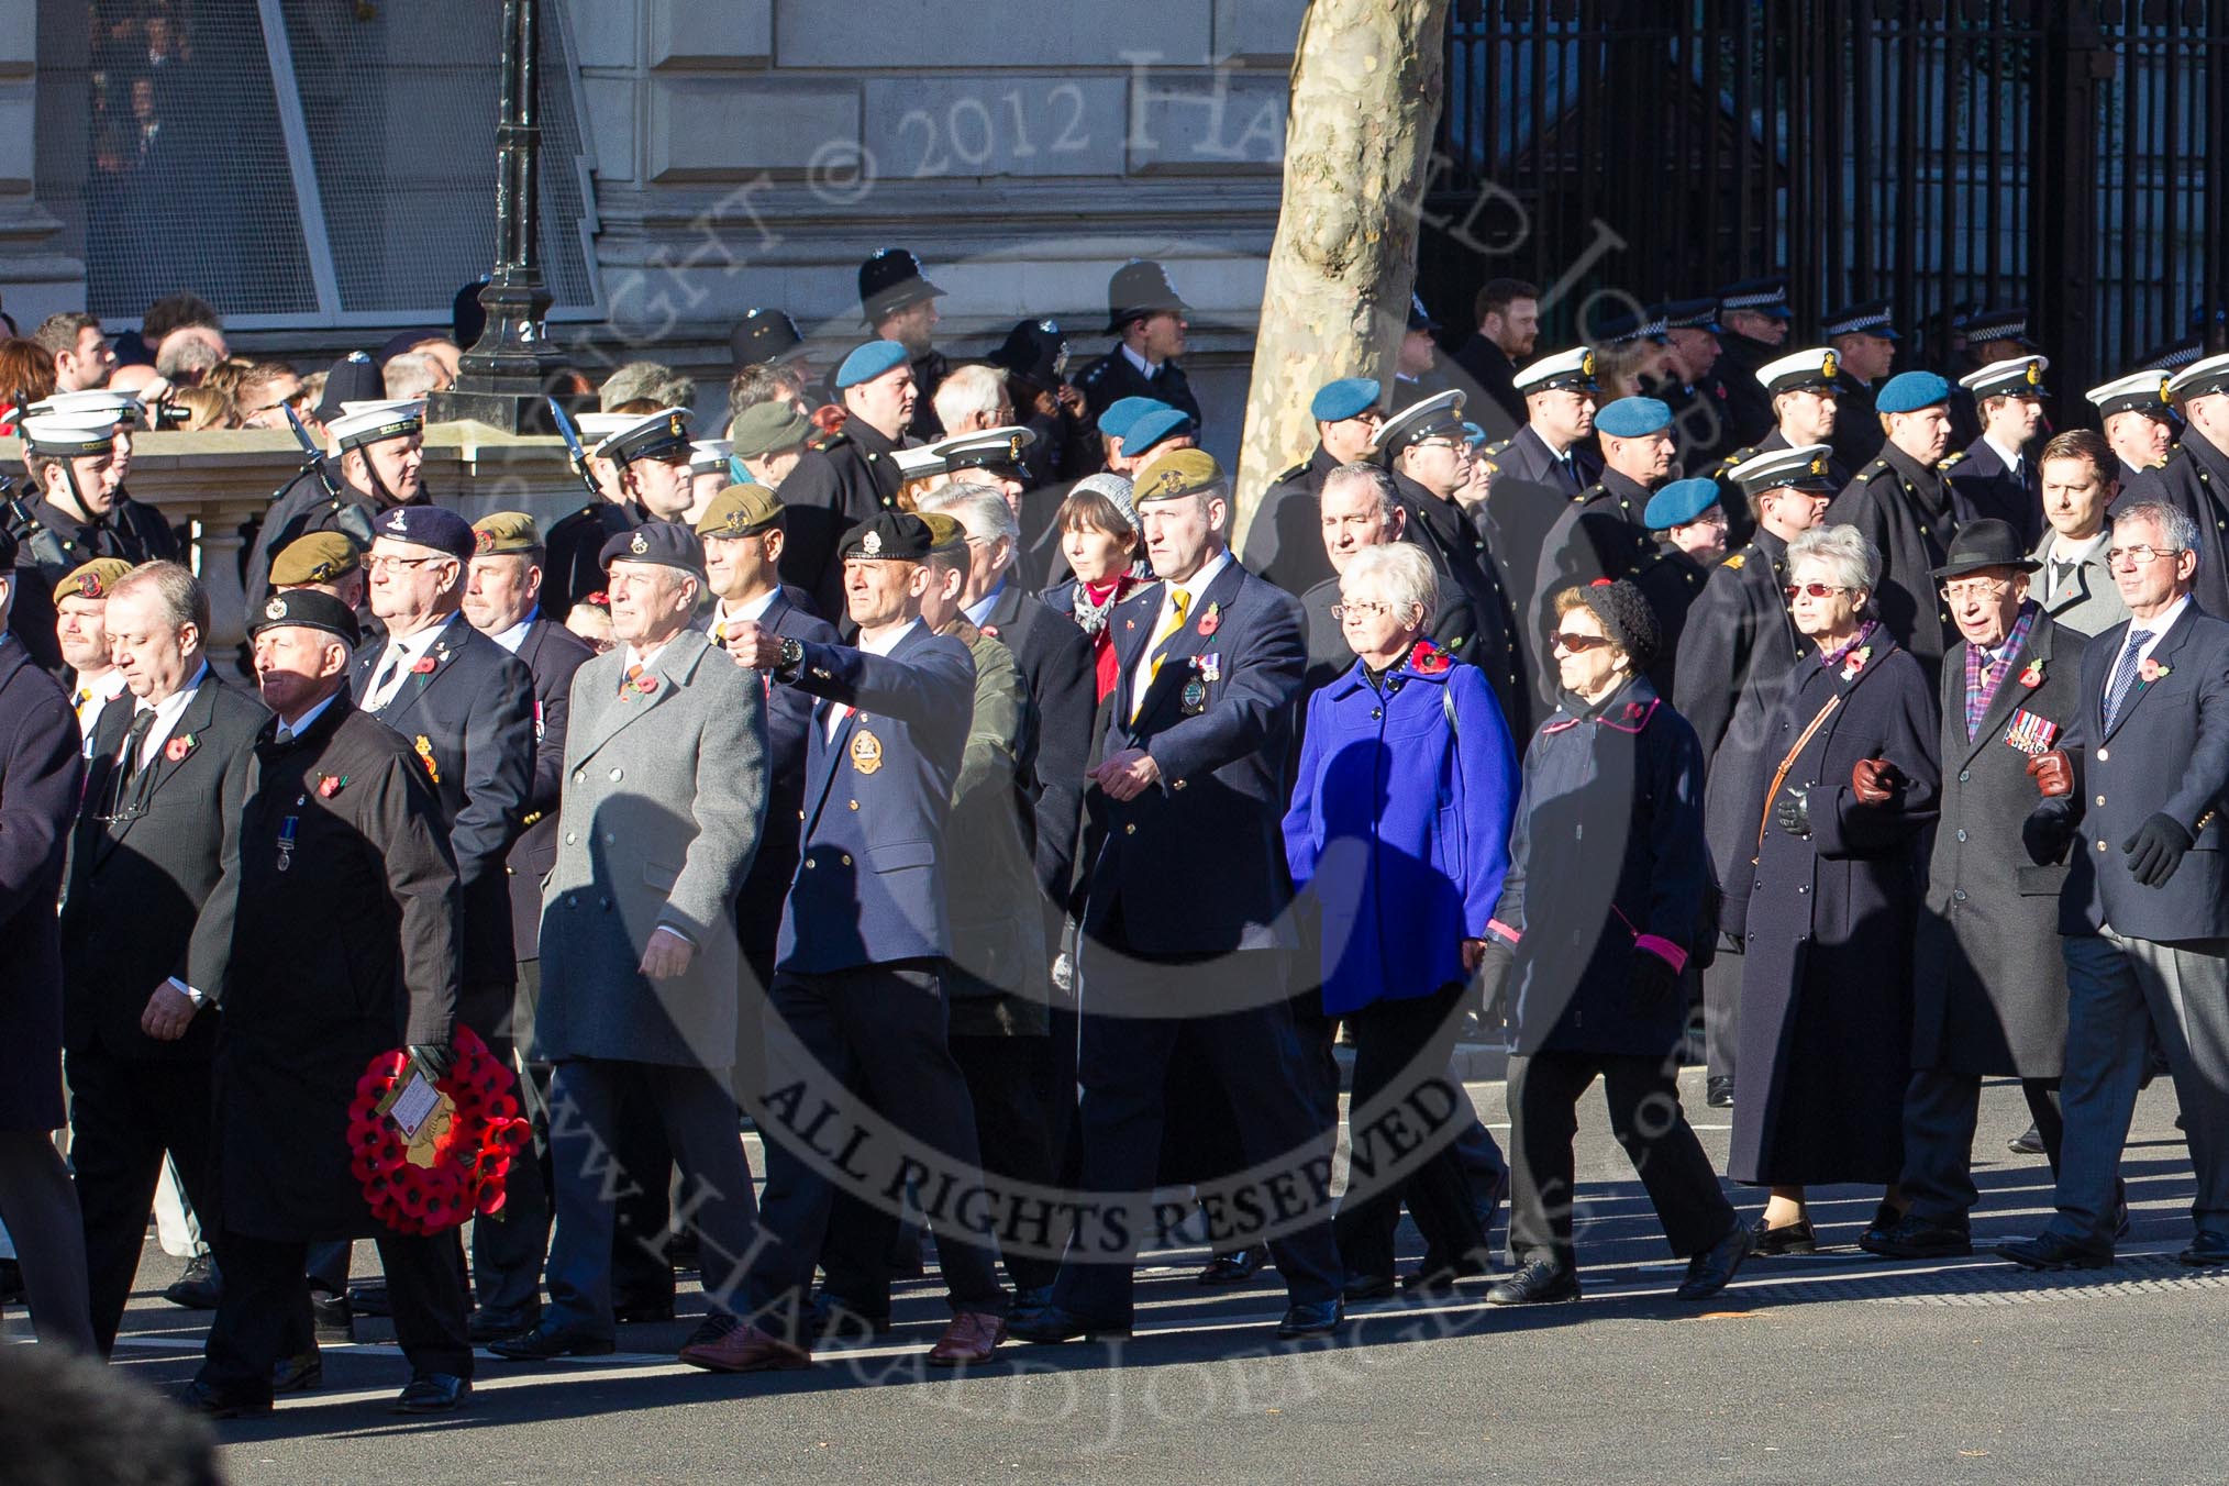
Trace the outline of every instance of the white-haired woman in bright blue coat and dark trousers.
[[1355, 666], [1308, 700], [1284, 818], [1295, 891], [1322, 909], [1324, 1014], [1355, 1045], [1337, 1241], [1349, 1294], [1393, 1290], [1406, 1199], [1431, 1252], [1485, 1248], [1451, 1141], [1462, 996], [1509, 869], [1518, 760], [1485, 673], [1431, 646], [1440, 577], [1422, 548], [1360, 553], [1335, 617]]

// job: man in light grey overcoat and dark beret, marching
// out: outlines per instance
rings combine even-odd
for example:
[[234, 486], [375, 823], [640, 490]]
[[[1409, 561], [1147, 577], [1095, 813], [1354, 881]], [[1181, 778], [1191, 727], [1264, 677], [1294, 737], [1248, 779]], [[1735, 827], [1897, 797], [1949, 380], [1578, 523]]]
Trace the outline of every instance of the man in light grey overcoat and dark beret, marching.
[[[542, 1007], [557, 1232], [551, 1306], [497, 1357], [613, 1350], [611, 1172], [622, 1107], [655, 1109], [702, 1241], [704, 1328], [731, 1326], [758, 1225], [736, 1134], [736, 893], [767, 809], [765, 686], [689, 626], [704, 548], [653, 521], [611, 537], [620, 644], [573, 675], [557, 864], [542, 887]], [[756, 1007], [751, 1009], [756, 1014]]]

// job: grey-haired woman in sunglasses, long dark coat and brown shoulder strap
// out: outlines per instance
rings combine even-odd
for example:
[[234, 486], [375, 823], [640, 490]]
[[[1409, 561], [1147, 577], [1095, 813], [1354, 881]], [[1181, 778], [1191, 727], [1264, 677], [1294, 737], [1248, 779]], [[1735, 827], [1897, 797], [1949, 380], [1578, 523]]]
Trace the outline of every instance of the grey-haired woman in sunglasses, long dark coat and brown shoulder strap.
[[[1855, 526], [1788, 544], [1797, 662], [1756, 782], [1741, 925], [1741, 1098], [1727, 1176], [1770, 1187], [1759, 1254], [1808, 1254], [1803, 1190], [1879, 1183], [1901, 1216], [1910, 947], [1939, 782], [1935, 686], [1875, 615], [1881, 555]], [[1756, 1069], [1754, 1074], [1750, 1069]]]

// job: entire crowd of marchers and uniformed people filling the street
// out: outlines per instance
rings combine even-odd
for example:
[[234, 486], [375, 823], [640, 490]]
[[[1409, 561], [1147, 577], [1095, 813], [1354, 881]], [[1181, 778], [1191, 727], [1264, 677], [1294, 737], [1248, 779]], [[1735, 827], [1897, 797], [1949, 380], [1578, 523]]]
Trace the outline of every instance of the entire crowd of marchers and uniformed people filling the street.
[[[1471, 1277], [1574, 1301], [1596, 1081], [1681, 1299], [1817, 1250], [1819, 1185], [1881, 1190], [1875, 1254], [1968, 1254], [1984, 1078], [2057, 1181], [2008, 1261], [2113, 1261], [2167, 1072], [2182, 1261], [2229, 1263], [2229, 356], [2051, 430], [2019, 310], [1950, 374], [1884, 303], [1794, 336], [1774, 278], [1542, 352], [1500, 278], [1467, 339], [1413, 303], [1242, 512], [1161, 265], [1074, 379], [1052, 321], [947, 359], [941, 294], [869, 258], [831, 368], [751, 312], [718, 439], [620, 368], [548, 524], [421, 481], [437, 334], [301, 377], [178, 296], [125, 354], [0, 345], [0, 1216], [42, 1339], [114, 1346], [149, 1214], [212, 1415], [317, 1388], [352, 1310], [446, 1412], [486, 1355], [671, 1319], [675, 1265], [682, 1361], [807, 1368], [889, 1330], [923, 1234], [934, 1366], [1126, 1335], [1195, 1219], [1284, 1339]], [[125, 488], [194, 401], [312, 450], [243, 653]], [[1696, 1016], [1752, 1214], [1681, 1107]], [[466, 1254], [372, 1216], [350, 1121], [368, 1063], [446, 1098], [479, 1043], [533, 1141]]]

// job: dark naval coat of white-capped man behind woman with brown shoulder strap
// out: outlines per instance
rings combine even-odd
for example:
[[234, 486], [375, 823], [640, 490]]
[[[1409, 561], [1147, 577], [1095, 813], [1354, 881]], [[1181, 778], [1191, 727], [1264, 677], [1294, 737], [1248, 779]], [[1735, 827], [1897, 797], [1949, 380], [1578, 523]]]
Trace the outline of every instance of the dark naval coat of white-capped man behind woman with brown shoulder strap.
[[1756, 851], [1763, 791], [1781, 760], [1770, 753], [1772, 715], [1788, 673], [1810, 651], [1788, 617], [1785, 581], [1788, 544], [1759, 528], [1748, 546], [1712, 568], [1687, 608], [1672, 668], [1672, 704], [1710, 760], [1703, 831], [1721, 882], [1736, 869], [1745, 873]]

